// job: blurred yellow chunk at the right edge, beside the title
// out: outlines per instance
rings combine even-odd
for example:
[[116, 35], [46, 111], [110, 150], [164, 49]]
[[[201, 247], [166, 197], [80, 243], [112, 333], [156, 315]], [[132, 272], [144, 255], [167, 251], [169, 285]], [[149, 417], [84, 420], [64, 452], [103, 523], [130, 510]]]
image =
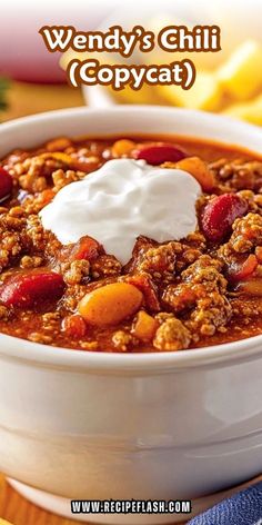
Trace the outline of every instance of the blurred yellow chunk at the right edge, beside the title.
[[218, 70], [221, 85], [236, 100], [248, 100], [262, 89], [262, 47], [246, 40]]

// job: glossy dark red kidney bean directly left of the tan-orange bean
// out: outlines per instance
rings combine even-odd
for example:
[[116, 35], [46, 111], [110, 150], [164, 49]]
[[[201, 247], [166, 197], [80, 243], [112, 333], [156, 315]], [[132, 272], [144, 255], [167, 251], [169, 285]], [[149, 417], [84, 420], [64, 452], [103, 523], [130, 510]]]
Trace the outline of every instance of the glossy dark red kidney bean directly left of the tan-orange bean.
[[0, 301], [6, 306], [31, 308], [44, 300], [60, 299], [63, 290], [63, 279], [54, 271], [17, 274], [0, 287]]

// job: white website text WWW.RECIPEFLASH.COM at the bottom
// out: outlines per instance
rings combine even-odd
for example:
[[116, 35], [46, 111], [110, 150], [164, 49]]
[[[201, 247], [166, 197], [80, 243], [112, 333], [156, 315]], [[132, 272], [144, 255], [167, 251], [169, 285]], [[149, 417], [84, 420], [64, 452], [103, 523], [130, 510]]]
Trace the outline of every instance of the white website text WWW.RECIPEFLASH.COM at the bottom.
[[74, 499], [72, 514], [190, 514], [190, 499]]

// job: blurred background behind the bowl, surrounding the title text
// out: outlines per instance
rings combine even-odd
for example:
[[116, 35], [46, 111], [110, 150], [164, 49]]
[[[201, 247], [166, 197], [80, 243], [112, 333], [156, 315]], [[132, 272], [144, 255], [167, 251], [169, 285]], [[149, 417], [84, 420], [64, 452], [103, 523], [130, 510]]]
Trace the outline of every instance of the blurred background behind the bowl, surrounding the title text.
[[[261, 0], [9, 0], [1, 10], [0, 120], [84, 103], [155, 103], [215, 111], [262, 125], [261, 19]], [[67, 85], [63, 71], [72, 52], [49, 53], [38, 33], [43, 24], [71, 24], [82, 31], [142, 24], [155, 32], [172, 24], [218, 24], [222, 50], [188, 53], [198, 71], [189, 91], [177, 86], [125, 88], [118, 93], [101, 87], [75, 90]], [[155, 49], [137, 53], [132, 62], [170, 63], [180, 58]], [[99, 53], [99, 60], [123, 61], [111, 53]]]

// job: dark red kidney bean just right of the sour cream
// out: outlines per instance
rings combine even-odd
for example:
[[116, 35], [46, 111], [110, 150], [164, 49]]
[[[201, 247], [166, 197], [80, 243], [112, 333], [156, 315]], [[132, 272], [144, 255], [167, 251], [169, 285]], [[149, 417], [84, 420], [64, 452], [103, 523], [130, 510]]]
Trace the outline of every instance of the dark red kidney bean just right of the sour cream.
[[235, 194], [223, 194], [212, 199], [204, 208], [201, 226], [204, 236], [221, 241], [230, 231], [234, 220], [248, 211], [248, 202]]

